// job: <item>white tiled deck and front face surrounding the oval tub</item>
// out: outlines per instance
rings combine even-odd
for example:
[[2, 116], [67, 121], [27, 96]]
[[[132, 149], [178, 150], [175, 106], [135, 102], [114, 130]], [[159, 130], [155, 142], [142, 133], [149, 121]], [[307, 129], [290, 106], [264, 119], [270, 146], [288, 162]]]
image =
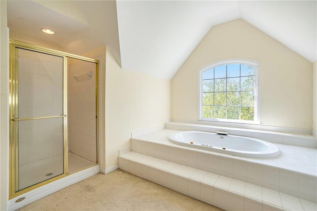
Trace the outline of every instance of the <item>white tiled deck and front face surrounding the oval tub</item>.
[[[167, 136], [176, 132], [179, 131], [164, 129], [133, 137], [131, 151], [257, 185], [308, 202], [317, 201], [317, 149], [276, 144], [282, 151], [277, 158], [242, 158], [183, 147], [167, 141]], [[120, 157], [125, 155], [128, 154]], [[119, 168], [122, 168], [120, 157]], [[140, 169], [137, 163], [131, 166]], [[132, 169], [128, 171], [135, 172]], [[176, 178], [181, 177], [177, 174]], [[227, 190], [224, 191], [228, 192]], [[248, 198], [243, 199], [248, 202]]]

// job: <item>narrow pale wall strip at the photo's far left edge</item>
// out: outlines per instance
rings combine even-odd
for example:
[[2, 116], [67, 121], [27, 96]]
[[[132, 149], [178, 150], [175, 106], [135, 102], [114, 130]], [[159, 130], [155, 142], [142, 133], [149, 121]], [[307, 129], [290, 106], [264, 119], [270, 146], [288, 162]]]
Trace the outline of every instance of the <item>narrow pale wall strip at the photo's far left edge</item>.
[[9, 64], [6, 0], [0, 0], [0, 210], [4, 211], [8, 201], [9, 184]]

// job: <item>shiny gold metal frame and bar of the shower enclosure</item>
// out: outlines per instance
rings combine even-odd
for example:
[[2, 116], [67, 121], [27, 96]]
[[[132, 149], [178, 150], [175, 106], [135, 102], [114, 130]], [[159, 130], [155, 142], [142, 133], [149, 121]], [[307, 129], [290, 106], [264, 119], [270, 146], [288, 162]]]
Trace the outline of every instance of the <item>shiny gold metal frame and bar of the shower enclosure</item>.
[[[18, 116], [18, 49], [29, 50], [38, 53], [46, 53], [54, 56], [63, 57], [63, 114], [57, 116], [44, 116], [34, 118], [15, 118]], [[15, 198], [21, 194], [39, 188], [43, 185], [56, 181], [63, 178], [68, 174], [68, 135], [67, 135], [67, 58], [75, 58], [88, 62], [96, 63], [96, 141], [97, 141], [97, 163], [98, 164], [98, 67], [99, 60], [92, 59], [84, 56], [79, 56], [71, 53], [65, 53], [56, 51], [44, 47], [39, 47], [33, 44], [28, 44], [16, 40], [10, 40], [9, 42], [9, 54], [10, 54], [10, 73], [9, 73], [9, 199]], [[18, 124], [16, 122], [23, 120], [34, 120], [34, 119], [45, 119], [45, 118], [63, 118], [63, 173], [57, 175], [51, 179], [42, 181], [23, 190], [18, 191], [19, 183], [19, 143], [18, 143]], [[94, 166], [92, 165], [92, 166]], [[91, 167], [91, 166], [88, 166]], [[82, 170], [82, 169], [80, 169]], [[80, 171], [78, 170], [78, 171]], [[76, 173], [78, 171], [74, 171]]]

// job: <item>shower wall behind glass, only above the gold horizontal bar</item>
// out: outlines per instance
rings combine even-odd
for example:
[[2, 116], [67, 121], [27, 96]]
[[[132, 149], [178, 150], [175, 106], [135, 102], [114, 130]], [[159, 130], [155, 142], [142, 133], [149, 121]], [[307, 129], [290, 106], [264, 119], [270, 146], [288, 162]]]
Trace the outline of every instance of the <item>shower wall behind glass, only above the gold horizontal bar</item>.
[[40, 60], [37, 56], [26, 58], [29, 65], [22, 67], [25, 62], [20, 63], [20, 118], [62, 114], [62, 71], [56, 71], [62, 70], [62, 60], [53, 61], [52, 56]]

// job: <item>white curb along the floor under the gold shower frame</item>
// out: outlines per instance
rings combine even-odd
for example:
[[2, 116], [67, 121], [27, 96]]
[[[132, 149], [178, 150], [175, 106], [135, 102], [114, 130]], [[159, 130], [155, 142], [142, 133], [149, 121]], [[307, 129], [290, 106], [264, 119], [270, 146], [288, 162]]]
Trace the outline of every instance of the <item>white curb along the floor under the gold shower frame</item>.
[[[90, 176], [93, 176], [95, 174], [98, 174], [100, 172], [99, 165], [87, 168], [85, 170], [82, 170], [80, 172], [71, 174], [69, 176], [66, 176], [64, 178], [61, 178], [59, 180], [56, 180], [54, 182], [51, 182], [47, 185], [44, 185], [40, 188], [37, 188], [35, 190], [29, 191], [25, 194], [22, 194], [16, 198], [11, 199], [8, 202], [8, 211], [14, 211], [19, 208], [22, 208], [23, 206], [26, 206], [38, 199], [41, 199], [45, 196], [48, 196], [56, 191], [59, 191], [69, 185], [72, 185], [76, 182], [79, 182], [83, 179], [86, 179]], [[21, 202], [15, 203], [17, 199], [20, 199], [22, 197], [25, 197], [25, 199]]]

